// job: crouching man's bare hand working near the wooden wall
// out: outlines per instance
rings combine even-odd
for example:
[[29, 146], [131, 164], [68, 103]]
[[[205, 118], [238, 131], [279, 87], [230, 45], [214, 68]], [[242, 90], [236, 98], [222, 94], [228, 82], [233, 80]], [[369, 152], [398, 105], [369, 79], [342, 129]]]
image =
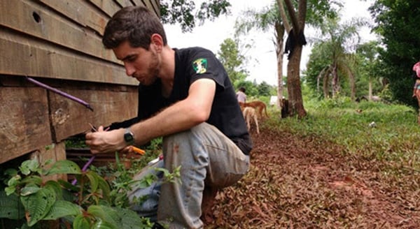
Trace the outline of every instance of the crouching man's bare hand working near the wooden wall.
[[92, 154], [125, 152], [128, 151], [127, 142], [124, 140], [124, 129], [104, 131], [104, 126], [99, 126], [97, 132], [86, 134], [86, 145]]

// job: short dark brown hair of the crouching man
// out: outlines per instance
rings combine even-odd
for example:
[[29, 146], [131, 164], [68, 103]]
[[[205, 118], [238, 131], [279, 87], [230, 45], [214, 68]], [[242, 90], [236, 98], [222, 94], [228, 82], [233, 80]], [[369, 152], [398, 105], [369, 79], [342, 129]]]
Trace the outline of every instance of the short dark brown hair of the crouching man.
[[132, 47], [148, 50], [153, 34], [162, 36], [163, 45], [167, 45], [159, 17], [143, 6], [128, 6], [118, 10], [106, 24], [102, 43], [111, 49], [128, 40]]

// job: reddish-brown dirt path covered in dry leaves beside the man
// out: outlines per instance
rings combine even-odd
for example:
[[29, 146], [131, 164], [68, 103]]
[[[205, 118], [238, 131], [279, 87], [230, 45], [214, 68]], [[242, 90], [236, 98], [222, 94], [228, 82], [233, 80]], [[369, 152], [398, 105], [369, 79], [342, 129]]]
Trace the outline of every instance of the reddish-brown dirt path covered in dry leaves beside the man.
[[[251, 170], [206, 228], [420, 228], [420, 174], [262, 126]], [[398, 179], [388, 174], [398, 172]]]

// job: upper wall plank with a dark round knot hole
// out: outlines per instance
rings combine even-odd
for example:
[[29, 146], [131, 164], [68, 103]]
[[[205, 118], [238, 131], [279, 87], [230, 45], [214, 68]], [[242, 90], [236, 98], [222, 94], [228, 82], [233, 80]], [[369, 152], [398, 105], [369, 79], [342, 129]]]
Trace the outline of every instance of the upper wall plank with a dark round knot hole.
[[[13, 14], [8, 13], [11, 8], [14, 9]], [[120, 63], [111, 50], [104, 49], [101, 37], [90, 29], [62, 20], [54, 11], [31, 1], [1, 1], [0, 24], [41, 40], [48, 40], [54, 45]]]

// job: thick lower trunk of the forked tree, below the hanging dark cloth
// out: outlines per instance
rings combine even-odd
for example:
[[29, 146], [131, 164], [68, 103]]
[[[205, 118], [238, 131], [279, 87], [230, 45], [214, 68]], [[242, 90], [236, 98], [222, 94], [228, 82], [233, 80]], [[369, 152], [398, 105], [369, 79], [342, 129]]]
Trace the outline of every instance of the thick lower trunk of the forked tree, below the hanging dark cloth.
[[305, 117], [307, 112], [303, 108], [302, 90], [300, 89], [300, 59], [302, 45], [295, 45], [292, 56], [287, 65], [288, 111], [290, 116]]

